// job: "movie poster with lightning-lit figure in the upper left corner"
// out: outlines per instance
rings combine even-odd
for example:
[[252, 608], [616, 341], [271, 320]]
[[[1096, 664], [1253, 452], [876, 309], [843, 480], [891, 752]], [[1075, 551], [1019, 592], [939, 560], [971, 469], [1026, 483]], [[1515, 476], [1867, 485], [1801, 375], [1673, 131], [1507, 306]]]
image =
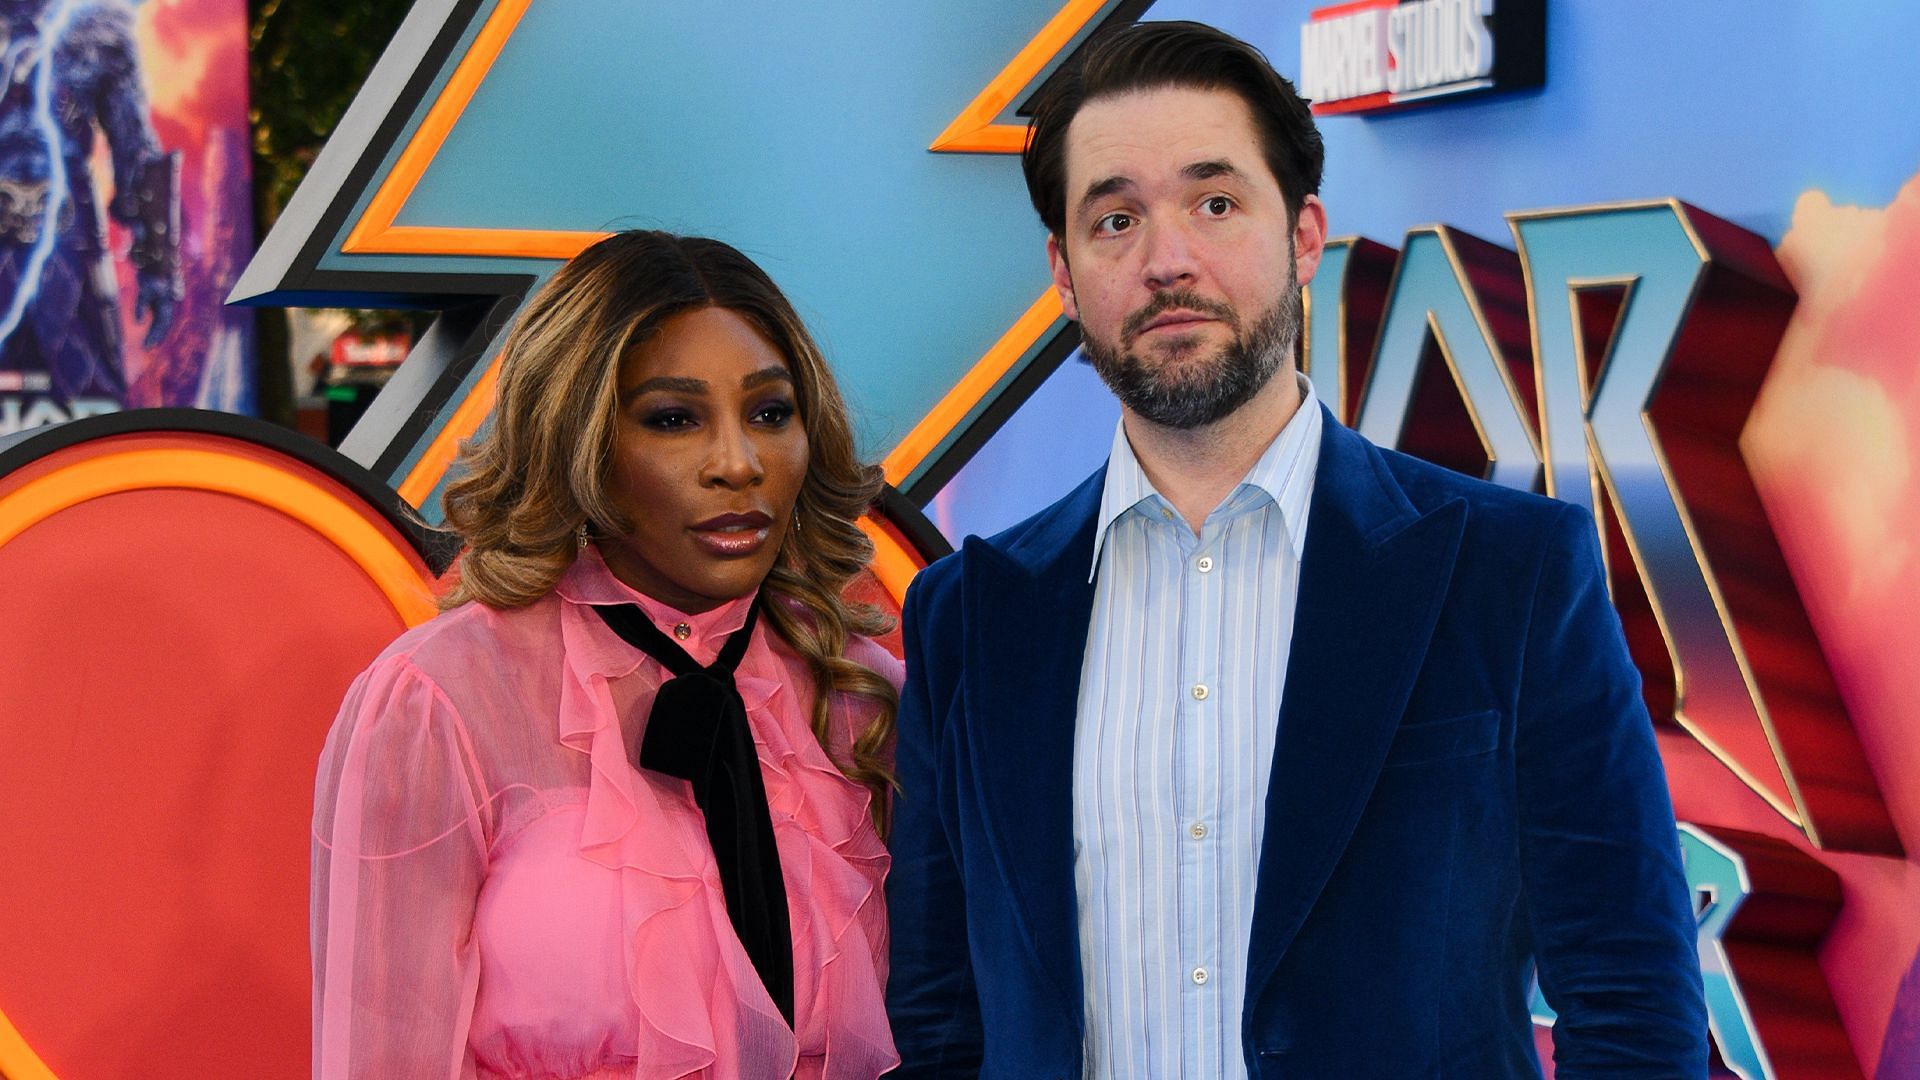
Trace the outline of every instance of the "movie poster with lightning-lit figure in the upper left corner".
[[244, 0], [0, 0], [0, 436], [253, 411]]

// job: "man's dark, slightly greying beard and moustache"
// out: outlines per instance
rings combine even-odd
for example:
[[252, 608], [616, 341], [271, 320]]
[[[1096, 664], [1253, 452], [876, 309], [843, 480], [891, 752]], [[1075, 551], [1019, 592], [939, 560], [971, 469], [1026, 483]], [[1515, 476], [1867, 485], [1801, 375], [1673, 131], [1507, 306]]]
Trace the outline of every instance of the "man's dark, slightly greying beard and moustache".
[[1235, 334], [1212, 357], [1177, 357], [1160, 365], [1110, 346], [1085, 332], [1081, 350], [1100, 373], [1100, 380], [1119, 404], [1144, 421], [1177, 430], [1192, 430], [1233, 415], [1281, 371], [1300, 338], [1300, 281], [1294, 273], [1292, 244], [1286, 258], [1286, 288], [1252, 329], [1242, 331], [1233, 307], [1188, 290], [1165, 290], [1127, 315], [1119, 338], [1129, 340], [1165, 311], [1196, 311], [1227, 323]]

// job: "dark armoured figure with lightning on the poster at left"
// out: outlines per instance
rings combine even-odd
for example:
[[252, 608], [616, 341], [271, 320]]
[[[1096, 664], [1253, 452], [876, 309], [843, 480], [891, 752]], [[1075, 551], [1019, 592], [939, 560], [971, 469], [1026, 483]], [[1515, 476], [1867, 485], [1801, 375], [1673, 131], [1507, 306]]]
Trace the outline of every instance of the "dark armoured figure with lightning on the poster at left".
[[127, 394], [113, 252], [88, 167], [96, 131], [113, 161], [106, 213], [132, 234], [148, 348], [182, 296], [180, 156], [154, 135], [132, 29], [117, 0], [0, 0], [0, 373], [67, 402]]

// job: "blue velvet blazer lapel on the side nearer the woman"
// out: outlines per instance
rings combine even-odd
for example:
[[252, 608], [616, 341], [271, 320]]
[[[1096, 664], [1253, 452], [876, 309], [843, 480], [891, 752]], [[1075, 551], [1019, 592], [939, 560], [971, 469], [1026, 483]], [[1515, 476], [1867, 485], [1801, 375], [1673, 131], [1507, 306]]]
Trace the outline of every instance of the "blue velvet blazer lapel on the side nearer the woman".
[[1016, 538], [970, 540], [966, 696], [970, 774], [1039, 970], [1081, 1019], [1073, 890], [1073, 717], [1092, 617], [1096, 471]]

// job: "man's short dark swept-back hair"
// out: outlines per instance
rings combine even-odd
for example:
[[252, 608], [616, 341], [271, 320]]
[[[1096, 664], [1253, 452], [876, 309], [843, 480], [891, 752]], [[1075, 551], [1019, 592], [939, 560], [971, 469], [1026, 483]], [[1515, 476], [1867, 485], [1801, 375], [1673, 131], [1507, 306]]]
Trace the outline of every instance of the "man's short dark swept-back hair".
[[1319, 192], [1325, 150], [1313, 113], [1258, 48], [1200, 23], [1131, 23], [1092, 38], [1079, 61], [1054, 73], [1033, 102], [1020, 167], [1048, 233], [1066, 236], [1068, 127], [1081, 106], [1162, 86], [1231, 90], [1246, 102], [1288, 219], [1300, 215], [1306, 196]]

